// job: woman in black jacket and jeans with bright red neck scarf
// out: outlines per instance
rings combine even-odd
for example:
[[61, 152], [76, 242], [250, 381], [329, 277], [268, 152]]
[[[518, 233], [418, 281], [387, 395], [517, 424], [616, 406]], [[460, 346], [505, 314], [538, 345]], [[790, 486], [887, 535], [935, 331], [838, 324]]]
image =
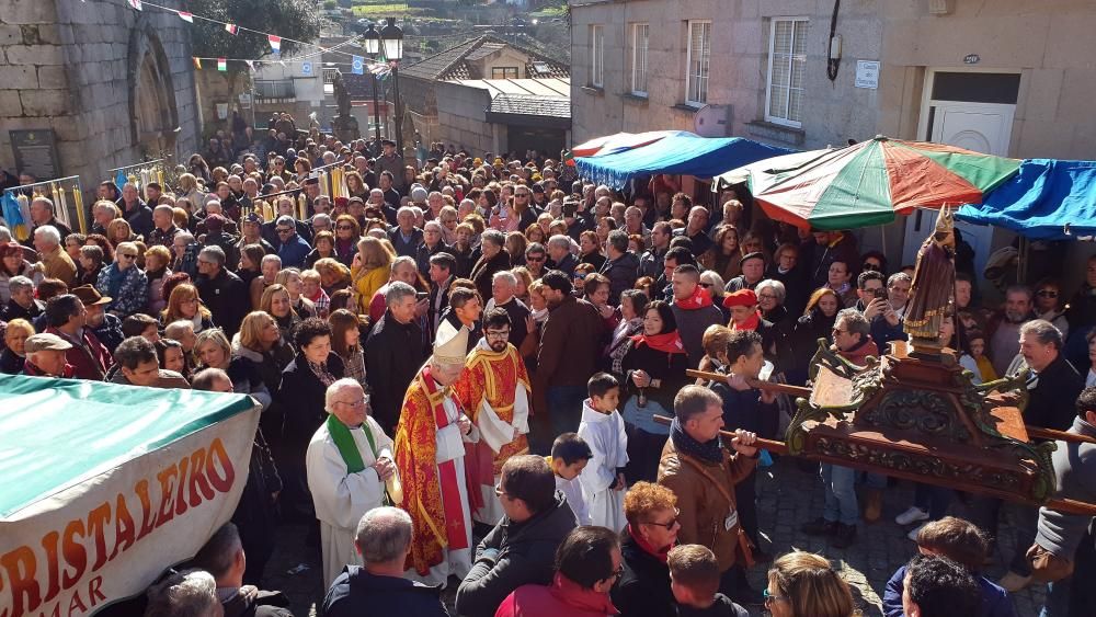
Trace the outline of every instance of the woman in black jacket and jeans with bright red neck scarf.
[[654, 481], [659, 455], [670, 427], [655, 415], [673, 418], [674, 395], [685, 385], [688, 359], [677, 335], [677, 320], [667, 302], [655, 300], [643, 312], [643, 332], [631, 338], [631, 349], [620, 363], [628, 400], [624, 421], [628, 431], [628, 483]]

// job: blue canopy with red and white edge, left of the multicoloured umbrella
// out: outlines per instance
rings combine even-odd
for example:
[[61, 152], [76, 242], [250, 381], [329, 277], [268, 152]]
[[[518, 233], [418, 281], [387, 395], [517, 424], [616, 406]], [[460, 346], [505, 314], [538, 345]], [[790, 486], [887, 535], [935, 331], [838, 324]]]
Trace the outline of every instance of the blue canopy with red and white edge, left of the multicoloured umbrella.
[[788, 155], [792, 150], [742, 137], [700, 137], [672, 132], [647, 146], [612, 155], [575, 158], [579, 173], [597, 184], [623, 188], [635, 176], [669, 173], [713, 178], [728, 169]]

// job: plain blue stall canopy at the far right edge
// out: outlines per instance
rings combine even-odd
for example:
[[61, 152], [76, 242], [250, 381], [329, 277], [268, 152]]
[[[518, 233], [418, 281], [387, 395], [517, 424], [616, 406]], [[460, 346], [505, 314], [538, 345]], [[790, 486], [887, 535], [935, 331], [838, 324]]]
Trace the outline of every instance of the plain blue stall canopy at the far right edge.
[[1096, 161], [1029, 159], [1019, 172], [956, 217], [1011, 229], [1031, 240], [1096, 235]]

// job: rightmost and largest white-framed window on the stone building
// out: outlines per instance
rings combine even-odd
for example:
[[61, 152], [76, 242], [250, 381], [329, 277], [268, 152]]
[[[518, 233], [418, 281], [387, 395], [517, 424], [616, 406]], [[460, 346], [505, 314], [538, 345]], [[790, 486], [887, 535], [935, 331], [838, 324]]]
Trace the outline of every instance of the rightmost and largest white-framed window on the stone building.
[[806, 18], [773, 19], [768, 43], [768, 85], [765, 91], [767, 122], [802, 126], [807, 26]]

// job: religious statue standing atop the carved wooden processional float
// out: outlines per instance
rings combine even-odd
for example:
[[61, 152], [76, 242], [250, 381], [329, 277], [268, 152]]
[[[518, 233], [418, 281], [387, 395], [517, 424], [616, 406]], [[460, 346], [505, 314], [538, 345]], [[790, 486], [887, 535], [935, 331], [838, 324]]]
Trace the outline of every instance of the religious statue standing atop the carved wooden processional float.
[[954, 311], [955, 301], [955, 217], [947, 206], [940, 209], [936, 229], [917, 251], [913, 271], [910, 306], [903, 330], [914, 351], [938, 354], [940, 324]]

